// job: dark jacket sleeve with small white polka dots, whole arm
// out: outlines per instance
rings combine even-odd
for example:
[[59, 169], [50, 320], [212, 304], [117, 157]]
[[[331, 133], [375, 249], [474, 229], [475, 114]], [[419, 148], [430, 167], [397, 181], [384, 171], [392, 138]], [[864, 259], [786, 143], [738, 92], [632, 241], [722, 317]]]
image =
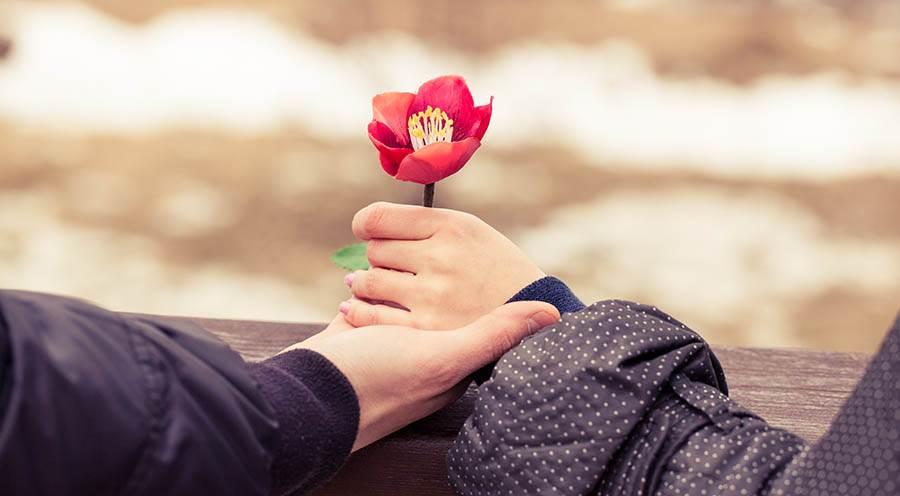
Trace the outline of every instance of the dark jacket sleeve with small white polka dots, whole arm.
[[728, 399], [706, 343], [606, 301], [508, 353], [448, 454], [458, 494], [745, 495], [803, 448]]

